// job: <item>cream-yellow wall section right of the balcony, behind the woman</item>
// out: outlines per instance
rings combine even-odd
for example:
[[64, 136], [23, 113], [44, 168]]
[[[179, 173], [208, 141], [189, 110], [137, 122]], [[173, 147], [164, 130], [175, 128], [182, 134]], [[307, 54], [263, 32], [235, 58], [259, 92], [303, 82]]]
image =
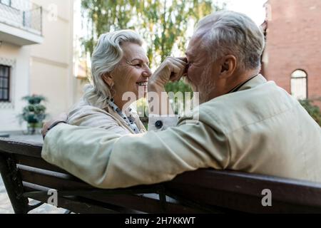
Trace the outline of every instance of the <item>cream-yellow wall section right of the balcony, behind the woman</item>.
[[[73, 104], [73, 4], [72, 1], [34, 0], [44, 8], [44, 43], [31, 48], [30, 91], [46, 96], [48, 113], [58, 115]], [[56, 4], [57, 17], [50, 4]]]

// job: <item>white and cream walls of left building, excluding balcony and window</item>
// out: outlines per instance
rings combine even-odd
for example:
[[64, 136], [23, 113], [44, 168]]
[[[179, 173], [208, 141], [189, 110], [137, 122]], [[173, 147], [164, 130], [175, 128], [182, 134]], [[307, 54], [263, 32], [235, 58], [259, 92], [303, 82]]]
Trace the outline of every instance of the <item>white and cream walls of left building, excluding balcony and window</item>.
[[[78, 99], [79, 82], [73, 77], [73, 0], [31, 0], [43, 7], [44, 42], [32, 46], [2, 43], [0, 61], [14, 60], [11, 103], [0, 103], [0, 132], [25, 130], [16, 118], [26, 105], [21, 98], [39, 94], [48, 99], [52, 117], [67, 111]], [[57, 17], [49, 6], [56, 6]], [[52, 7], [51, 7], [52, 9]]]

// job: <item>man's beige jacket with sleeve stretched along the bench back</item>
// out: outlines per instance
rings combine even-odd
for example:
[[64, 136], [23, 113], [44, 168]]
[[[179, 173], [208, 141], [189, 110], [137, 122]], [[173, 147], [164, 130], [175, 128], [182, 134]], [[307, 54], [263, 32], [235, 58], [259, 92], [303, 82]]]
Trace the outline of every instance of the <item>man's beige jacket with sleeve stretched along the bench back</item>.
[[101, 188], [163, 182], [201, 167], [321, 182], [321, 128], [274, 82], [255, 77], [199, 112], [198, 123], [182, 118], [177, 127], [122, 137], [61, 124], [46, 136], [42, 157]]

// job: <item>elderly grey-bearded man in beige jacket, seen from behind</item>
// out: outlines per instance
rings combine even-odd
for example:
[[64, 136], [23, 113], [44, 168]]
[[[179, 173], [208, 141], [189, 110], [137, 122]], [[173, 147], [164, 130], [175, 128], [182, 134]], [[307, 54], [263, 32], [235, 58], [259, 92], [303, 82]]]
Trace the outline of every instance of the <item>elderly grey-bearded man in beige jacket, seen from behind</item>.
[[[263, 33], [247, 16], [206, 16], [186, 51], [187, 79], [200, 93], [197, 123], [186, 117], [173, 128], [122, 137], [59, 124], [42, 157], [101, 188], [164, 182], [205, 167], [321, 182], [320, 127], [259, 74], [263, 48]], [[166, 69], [153, 74], [149, 90], [161, 93], [171, 74], [183, 73]]]

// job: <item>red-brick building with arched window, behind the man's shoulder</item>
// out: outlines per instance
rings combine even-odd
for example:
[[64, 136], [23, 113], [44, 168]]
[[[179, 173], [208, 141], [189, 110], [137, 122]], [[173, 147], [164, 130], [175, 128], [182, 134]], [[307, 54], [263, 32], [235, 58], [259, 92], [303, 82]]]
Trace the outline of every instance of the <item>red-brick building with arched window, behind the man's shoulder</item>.
[[321, 1], [269, 0], [265, 8], [263, 74], [297, 99], [321, 98]]

